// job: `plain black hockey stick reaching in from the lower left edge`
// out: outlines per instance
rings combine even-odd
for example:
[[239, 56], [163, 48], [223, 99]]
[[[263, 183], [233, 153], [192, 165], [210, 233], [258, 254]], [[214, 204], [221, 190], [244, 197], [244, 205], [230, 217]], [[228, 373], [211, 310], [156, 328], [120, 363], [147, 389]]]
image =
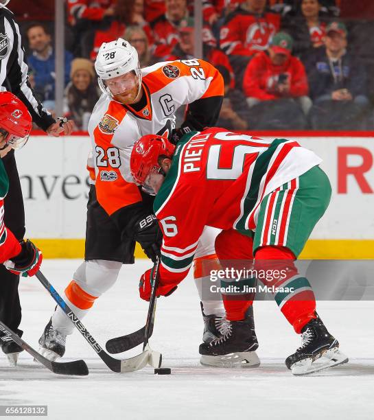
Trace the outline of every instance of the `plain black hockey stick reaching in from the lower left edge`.
[[73, 362], [51, 362], [43, 355], [34, 350], [27, 342], [23, 341], [14, 331], [8, 328], [0, 321], [0, 331], [3, 331], [6, 336], [12, 338], [16, 344], [30, 353], [38, 362], [43, 364], [47, 369], [59, 375], [88, 375], [89, 369], [87, 368], [84, 360], [74, 360]]

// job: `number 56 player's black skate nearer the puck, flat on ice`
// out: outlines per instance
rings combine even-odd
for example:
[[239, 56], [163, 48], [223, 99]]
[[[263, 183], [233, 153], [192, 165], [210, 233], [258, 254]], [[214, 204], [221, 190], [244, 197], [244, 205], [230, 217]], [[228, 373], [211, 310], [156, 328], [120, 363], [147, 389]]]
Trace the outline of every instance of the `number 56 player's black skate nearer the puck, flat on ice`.
[[[220, 367], [257, 367], [255, 352], [259, 343], [255, 333], [253, 308], [248, 308], [246, 318], [230, 322], [226, 318], [204, 315], [204, 338], [199, 347], [200, 363]], [[219, 333], [219, 335], [217, 335]], [[215, 338], [212, 338], [215, 336]]]

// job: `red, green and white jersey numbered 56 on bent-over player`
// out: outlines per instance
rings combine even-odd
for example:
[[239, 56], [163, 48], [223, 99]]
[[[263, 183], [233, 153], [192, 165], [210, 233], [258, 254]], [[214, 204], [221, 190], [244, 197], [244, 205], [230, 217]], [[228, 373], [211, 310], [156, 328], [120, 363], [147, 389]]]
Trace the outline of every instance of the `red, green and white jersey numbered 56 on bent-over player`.
[[204, 226], [255, 231], [263, 198], [321, 161], [293, 140], [222, 128], [185, 135], [154, 200], [163, 231], [161, 284], [185, 278]]

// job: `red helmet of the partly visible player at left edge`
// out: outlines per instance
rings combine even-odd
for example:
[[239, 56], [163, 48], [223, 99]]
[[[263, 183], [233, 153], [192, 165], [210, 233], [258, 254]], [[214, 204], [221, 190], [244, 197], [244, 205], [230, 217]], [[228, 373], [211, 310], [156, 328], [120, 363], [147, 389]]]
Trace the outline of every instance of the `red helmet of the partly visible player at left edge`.
[[0, 92], [0, 133], [12, 148], [21, 148], [29, 138], [32, 117], [25, 104], [10, 92]]

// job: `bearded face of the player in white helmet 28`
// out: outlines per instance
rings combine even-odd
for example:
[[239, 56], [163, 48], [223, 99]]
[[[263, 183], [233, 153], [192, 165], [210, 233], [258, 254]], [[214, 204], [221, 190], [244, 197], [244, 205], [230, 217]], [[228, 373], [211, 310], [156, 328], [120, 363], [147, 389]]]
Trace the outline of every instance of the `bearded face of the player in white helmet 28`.
[[114, 99], [121, 104], [130, 105], [135, 102], [139, 93], [139, 79], [135, 71], [119, 75], [117, 78], [104, 80], [104, 84]]

